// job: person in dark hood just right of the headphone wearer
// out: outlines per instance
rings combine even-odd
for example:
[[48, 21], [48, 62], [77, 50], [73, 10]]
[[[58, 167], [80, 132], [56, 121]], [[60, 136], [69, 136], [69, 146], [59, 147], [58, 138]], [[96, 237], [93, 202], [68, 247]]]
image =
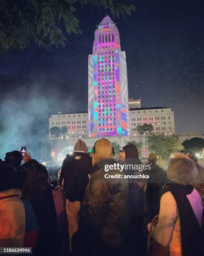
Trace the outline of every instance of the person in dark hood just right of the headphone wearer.
[[[123, 147], [126, 164], [142, 165], [139, 159], [137, 146], [129, 144]], [[135, 171], [134, 169], [125, 169], [123, 172], [127, 175], [138, 173], [146, 173], [146, 171]], [[129, 229], [127, 234], [127, 243], [129, 250], [134, 253], [137, 250], [137, 255], [146, 255], [146, 241], [144, 237], [144, 207], [145, 207], [145, 188], [147, 182], [143, 180], [129, 179]], [[134, 239], [133, 239], [134, 238]], [[134, 248], [136, 245], [136, 248]]]

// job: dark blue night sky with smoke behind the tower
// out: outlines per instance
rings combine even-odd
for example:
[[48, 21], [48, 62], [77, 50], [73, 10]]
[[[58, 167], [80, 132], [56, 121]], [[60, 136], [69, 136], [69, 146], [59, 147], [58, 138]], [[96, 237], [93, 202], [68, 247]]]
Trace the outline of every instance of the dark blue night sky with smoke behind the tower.
[[129, 97], [141, 98], [142, 107], [171, 107], [177, 134], [204, 134], [203, 2], [133, 2], [136, 12], [125, 20], [113, 19], [105, 10], [79, 8], [76, 15], [82, 33], [67, 35], [65, 48], [45, 51], [33, 44], [1, 59], [3, 122], [8, 125], [9, 115], [15, 122], [19, 113], [20, 118], [33, 114], [30, 132], [41, 139], [47, 138], [51, 114], [87, 110], [88, 54], [92, 54], [96, 24], [107, 13], [117, 22], [126, 52]]

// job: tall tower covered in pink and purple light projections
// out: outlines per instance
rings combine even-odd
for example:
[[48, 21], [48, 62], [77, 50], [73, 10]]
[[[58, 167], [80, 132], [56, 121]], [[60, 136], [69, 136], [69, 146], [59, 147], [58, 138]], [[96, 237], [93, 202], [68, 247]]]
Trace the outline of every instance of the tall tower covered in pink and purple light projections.
[[129, 136], [126, 56], [108, 15], [95, 31], [88, 83], [89, 136]]

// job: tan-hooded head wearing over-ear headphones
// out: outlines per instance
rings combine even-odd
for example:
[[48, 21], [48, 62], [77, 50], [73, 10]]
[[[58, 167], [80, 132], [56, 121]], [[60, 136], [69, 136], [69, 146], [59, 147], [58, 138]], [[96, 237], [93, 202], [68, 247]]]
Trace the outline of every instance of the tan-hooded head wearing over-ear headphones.
[[100, 162], [100, 159], [111, 159], [114, 155], [114, 148], [107, 139], [98, 140], [93, 147], [94, 154], [92, 156], [93, 166]]

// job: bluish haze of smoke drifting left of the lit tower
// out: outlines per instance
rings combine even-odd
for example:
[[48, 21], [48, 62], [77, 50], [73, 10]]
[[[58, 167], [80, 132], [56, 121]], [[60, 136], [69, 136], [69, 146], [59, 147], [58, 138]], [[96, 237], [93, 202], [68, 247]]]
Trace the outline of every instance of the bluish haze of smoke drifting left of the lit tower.
[[[5, 153], [20, 150], [27, 146], [27, 151], [40, 157], [42, 139], [48, 140], [48, 118], [58, 111], [70, 111], [74, 108], [72, 96], [63, 98], [60, 92], [50, 90], [42, 95], [42, 86], [34, 84], [31, 90], [18, 87], [2, 99], [0, 105], [0, 158]], [[39, 160], [39, 159], [38, 159]]]

